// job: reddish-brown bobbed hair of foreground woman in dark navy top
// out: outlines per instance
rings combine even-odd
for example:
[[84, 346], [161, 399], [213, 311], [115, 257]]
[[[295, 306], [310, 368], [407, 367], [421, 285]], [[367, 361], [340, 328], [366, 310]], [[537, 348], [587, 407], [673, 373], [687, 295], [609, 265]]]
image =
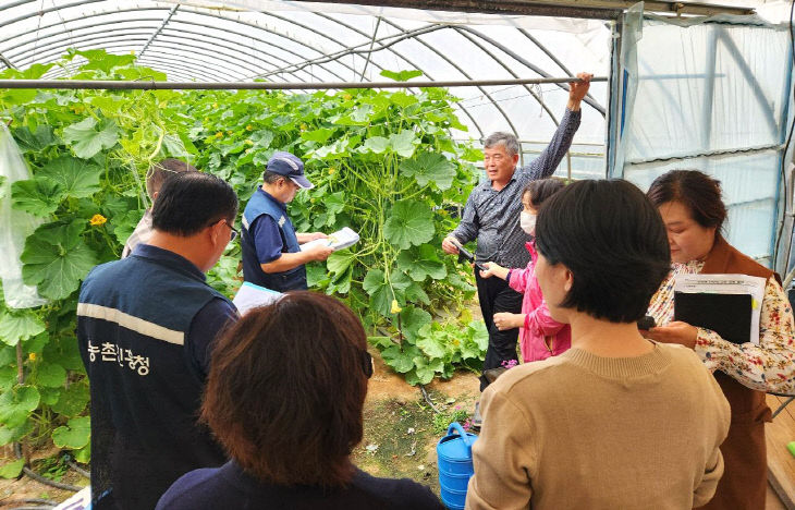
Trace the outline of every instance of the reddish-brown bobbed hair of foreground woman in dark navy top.
[[[369, 372], [368, 372], [369, 371]], [[201, 418], [260, 481], [342, 487], [371, 374], [362, 323], [325, 294], [248, 312], [212, 352]]]

